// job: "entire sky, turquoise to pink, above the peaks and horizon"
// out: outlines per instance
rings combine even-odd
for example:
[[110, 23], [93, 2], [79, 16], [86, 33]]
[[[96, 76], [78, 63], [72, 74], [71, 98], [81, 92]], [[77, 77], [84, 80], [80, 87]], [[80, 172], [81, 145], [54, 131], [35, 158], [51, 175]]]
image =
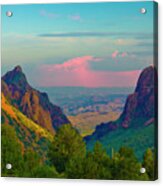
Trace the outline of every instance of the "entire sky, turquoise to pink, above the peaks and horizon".
[[2, 75], [20, 65], [37, 87], [133, 87], [153, 63], [153, 5], [2, 6]]

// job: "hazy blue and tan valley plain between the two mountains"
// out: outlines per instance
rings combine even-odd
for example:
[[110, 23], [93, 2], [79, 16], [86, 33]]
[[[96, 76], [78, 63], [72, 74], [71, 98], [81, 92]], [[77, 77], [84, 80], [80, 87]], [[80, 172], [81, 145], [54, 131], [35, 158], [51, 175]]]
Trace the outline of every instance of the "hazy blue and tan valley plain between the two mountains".
[[90, 135], [97, 125], [115, 121], [123, 111], [127, 94], [133, 88], [39, 88], [48, 93], [51, 101], [59, 105], [72, 126], [82, 136]]

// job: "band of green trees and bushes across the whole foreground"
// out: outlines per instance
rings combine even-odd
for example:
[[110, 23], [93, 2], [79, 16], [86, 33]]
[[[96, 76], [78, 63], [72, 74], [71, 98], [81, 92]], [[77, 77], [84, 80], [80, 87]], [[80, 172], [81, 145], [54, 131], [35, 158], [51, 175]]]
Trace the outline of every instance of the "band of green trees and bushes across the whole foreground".
[[[6, 164], [12, 169], [7, 170]], [[146, 173], [141, 174], [140, 168]], [[100, 143], [91, 152], [79, 133], [70, 125], [62, 126], [49, 145], [46, 161], [31, 149], [23, 149], [16, 132], [2, 125], [2, 176], [71, 178], [71, 179], [122, 179], [154, 180], [155, 157], [151, 149], [139, 162], [131, 148], [121, 147], [107, 154]]]

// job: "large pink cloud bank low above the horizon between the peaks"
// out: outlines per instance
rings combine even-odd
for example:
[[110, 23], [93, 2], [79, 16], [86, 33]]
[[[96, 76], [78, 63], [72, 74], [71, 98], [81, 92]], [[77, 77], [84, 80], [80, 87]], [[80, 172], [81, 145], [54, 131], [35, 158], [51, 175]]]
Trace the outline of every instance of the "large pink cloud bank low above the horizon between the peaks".
[[135, 86], [140, 71], [96, 71], [90, 63], [102, 59], [82, 56], [63, 64], [42, 65], [40, 86], [129, 87]]

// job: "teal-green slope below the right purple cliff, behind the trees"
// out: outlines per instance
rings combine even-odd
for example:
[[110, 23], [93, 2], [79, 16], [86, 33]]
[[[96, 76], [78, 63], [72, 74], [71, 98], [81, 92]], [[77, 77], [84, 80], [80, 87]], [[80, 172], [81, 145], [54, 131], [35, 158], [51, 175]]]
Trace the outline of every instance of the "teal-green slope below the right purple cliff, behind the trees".
[[[147, 148], [154, 148], [154, 131], [154, 124], [139, 128], [120, 128], [103, 136], [98, 141], [102, 143], [110, 155], [113, 149], [117, 151], [122, 146], [132, 147], [137, 158], [141, 160]], [[93, 137], [87, 143], [87, 149], [92, 150], [96, 142], [96, 137]]]

